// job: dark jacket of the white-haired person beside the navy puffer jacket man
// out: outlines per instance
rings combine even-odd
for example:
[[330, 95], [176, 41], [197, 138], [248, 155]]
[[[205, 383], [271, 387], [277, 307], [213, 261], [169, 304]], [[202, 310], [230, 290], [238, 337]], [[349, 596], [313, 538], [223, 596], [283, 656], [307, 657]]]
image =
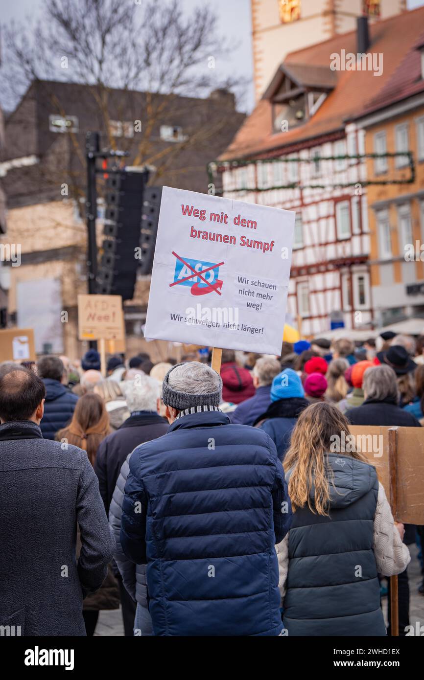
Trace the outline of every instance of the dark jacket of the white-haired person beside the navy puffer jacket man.
[[112, 432], [111, 435], [103, 439], [97, 449], [94, 469], [97, 477], [99, 477], [99, 489], [106, 513], [109, 513], [116, 481], [128, 454], [131, 454], [135, 447], [144, 443], [144, 441], [165, 435], [167, 430], [167, 421], [160, 415], [144, 413], [143, 415], [131, 415], [116, 432]]

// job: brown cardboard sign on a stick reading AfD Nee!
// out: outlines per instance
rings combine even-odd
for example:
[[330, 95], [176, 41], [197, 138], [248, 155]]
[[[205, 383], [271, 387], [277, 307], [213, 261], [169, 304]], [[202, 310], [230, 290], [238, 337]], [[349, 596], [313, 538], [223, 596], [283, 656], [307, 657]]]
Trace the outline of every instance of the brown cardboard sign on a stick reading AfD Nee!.
[[80, 340], [124, 340], [120, 295], [78, 295]]

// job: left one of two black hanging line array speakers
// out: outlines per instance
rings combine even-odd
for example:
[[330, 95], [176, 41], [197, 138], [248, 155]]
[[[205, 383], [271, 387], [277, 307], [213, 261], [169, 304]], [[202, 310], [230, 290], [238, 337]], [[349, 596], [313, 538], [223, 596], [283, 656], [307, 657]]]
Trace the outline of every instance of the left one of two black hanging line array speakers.
[[97, 292], [131, 300], [140, 267], [140, 234], [147, 172], [125, 172], [106, 180], [103, 254]]

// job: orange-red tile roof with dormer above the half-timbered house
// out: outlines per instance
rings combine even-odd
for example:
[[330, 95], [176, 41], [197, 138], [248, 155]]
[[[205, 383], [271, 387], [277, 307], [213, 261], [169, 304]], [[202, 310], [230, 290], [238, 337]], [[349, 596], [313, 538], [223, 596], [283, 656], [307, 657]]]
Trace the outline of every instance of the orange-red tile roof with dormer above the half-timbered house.
[[[329, 93], [316, 114], [305, 124], [281, 133], [272, 132], [272, 106], [261, 99], [252, 114], [238, 130], [233, 141], [220, 156], [221, 160], [260, 156], [274, 149], [293, 146], [305, 140], [327, 135], [344, 129], [344, 121], [359, 116], [370, 101], [382, 92], [399, 64], [410, 52], [411, 45], [418, 44], [423, 33], [424, 7], [403, 12], [397, 16], [370, 24], [370, 52], [382, 53], [382, 75], [372, 71], [335, 71], [337, 85]], [[329, 67], [331, 54], [357, 52], [357, 33], [350, 31], [336, 35], [316, 45], [291, 52], [284, 65]]]

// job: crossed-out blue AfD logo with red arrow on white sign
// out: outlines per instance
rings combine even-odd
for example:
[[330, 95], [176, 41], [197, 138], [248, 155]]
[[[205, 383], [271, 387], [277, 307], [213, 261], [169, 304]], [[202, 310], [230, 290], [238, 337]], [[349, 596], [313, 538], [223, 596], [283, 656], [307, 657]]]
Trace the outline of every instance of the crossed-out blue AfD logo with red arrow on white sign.
[[206, 295], [216, 292], [221, 295], [223, 281], [219, 278], [219, 268], [224, 262], [204, 262], [182, 257], [172, 252], [176, 258], [173, 286], [188, 286], [192, 295]]

